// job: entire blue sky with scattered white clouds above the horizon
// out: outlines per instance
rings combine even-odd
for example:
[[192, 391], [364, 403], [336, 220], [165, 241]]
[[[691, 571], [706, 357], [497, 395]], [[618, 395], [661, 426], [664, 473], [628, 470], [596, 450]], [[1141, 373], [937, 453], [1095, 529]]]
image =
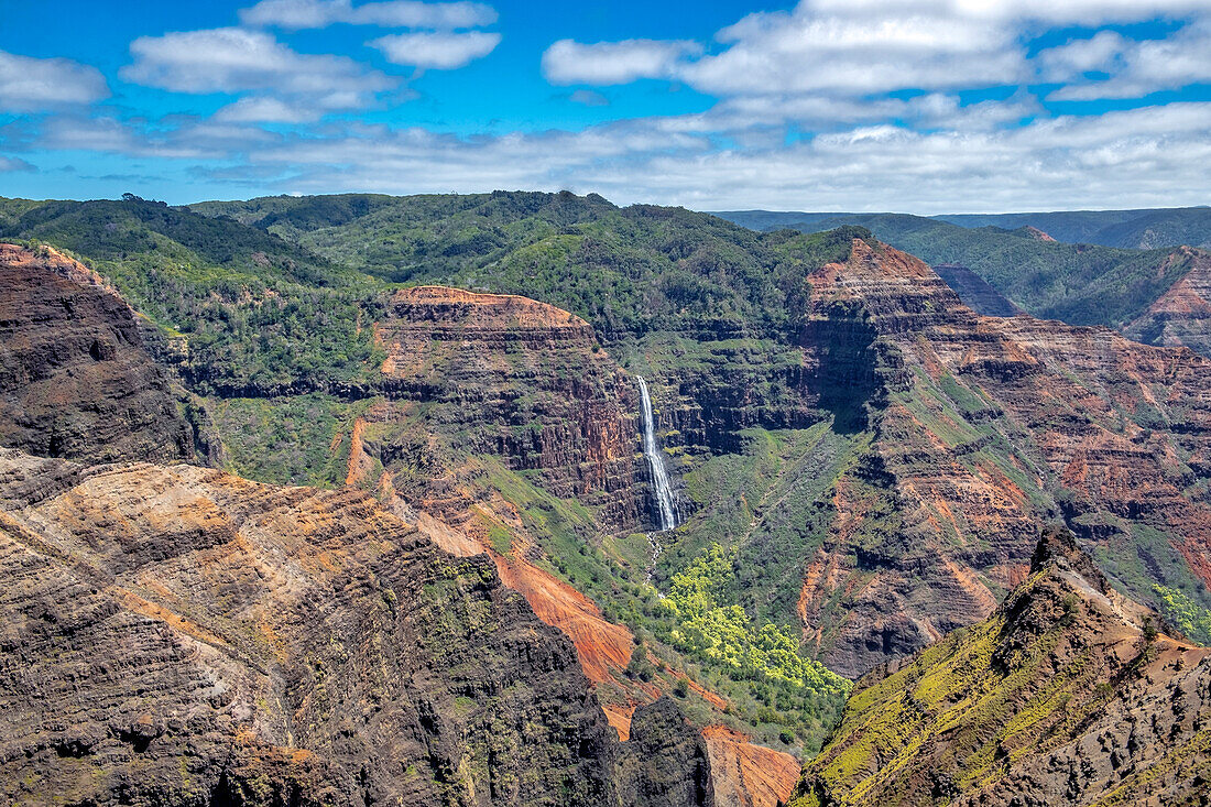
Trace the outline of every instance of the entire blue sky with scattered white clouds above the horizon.
[[0, 0], [0, 195], [1211, 202], [1211, 0]]

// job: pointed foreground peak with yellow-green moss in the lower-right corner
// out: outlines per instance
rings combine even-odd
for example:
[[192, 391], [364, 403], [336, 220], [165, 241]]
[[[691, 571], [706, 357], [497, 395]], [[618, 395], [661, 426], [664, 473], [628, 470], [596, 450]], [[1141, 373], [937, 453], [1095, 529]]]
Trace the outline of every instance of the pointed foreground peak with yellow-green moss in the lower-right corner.
[[1046, 534], [989, 619], [859, 682], [792, 805], [1203, 803], [1211, 651], [1157, 624]]

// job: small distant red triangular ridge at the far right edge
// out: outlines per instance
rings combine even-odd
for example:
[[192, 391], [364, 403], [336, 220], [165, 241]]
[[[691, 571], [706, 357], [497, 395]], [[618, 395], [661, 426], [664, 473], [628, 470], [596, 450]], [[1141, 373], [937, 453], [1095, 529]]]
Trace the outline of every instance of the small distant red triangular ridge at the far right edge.
[[1187, 258], [1189, 271], [1123, 332], [1147, 344], [1186, 345], [1211, 356], [1211, 253], [1182, 247], [1173, 261]]

